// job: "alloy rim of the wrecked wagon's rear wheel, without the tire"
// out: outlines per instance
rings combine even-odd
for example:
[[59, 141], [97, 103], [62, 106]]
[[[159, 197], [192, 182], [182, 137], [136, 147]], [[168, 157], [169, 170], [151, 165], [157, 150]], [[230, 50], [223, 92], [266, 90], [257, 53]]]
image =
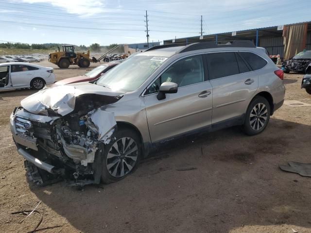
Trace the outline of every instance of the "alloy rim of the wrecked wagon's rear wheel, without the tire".
[[267, 122], [268, 109], [264, 103], [258, 103], [252, 109], [249, 123], [253, 130], [259, 131]]

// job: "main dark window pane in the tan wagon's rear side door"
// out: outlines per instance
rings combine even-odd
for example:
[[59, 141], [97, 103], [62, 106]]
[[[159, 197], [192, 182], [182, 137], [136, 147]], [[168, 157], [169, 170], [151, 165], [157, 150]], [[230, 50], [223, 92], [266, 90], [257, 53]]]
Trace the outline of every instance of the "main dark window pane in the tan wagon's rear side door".
[[218, 79], [239, 73], [234, 52], [216, 52], [207, 54], [209, 79]]

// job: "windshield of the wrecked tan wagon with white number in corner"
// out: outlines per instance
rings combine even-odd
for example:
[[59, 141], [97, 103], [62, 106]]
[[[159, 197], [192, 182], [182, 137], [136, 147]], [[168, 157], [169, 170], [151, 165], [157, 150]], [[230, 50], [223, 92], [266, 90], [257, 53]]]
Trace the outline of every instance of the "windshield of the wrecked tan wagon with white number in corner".
[[96, 84], [113, 90], [134, 91], [167, 57], [133, 56], [102, 76]]

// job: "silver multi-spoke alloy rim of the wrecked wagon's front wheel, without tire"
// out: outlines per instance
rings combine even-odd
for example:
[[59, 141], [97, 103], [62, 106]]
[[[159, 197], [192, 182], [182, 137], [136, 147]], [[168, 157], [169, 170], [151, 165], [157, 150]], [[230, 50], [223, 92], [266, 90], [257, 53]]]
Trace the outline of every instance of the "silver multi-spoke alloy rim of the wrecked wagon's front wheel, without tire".
[[106, 167], [113, 177], [123, 177], [135, 166], [138, 159], [138, 146], [131, 137], [117, 140], [107, 154]]

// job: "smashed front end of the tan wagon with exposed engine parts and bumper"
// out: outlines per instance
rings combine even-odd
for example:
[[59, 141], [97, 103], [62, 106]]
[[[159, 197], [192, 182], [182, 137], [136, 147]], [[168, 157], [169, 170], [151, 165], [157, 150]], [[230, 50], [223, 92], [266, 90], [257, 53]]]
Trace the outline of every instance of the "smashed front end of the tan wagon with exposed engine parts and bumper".
[[101, 181], [105, 145], [114, 140], [117, 123], [114, 114], [100, 106], [122, 96], [68, 97], [49, 106], [25, 99], [27, 109], [18, 107], [11, 115], [18, 153], [26, 159], [26, 176], [36, 184], [66, 179], [71, 185], [83, 186]]

